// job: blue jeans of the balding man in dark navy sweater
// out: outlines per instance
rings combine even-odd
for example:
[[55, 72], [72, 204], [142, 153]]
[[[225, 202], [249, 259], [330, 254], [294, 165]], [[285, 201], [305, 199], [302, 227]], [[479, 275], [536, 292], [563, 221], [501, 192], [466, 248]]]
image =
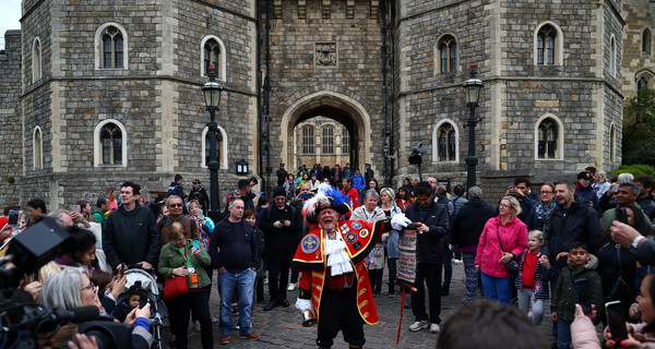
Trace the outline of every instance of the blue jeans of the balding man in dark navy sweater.
[[221, 292], [221, 335], [229, 335], [233, 329], [231, 298], [235, 288], [239, 291], [239, 333], [248, 335], [250, 316], [252, 315], [252, 293], [254, 292], [254, 274], [248, 268], [241, 272], [225, 270], [218, 273], [218, 290]]

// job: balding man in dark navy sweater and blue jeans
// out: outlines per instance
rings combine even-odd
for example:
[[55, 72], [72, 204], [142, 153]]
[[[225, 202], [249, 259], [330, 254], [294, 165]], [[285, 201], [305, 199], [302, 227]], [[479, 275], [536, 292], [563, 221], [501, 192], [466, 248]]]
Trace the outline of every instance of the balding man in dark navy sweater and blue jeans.
[[218, 269], [221, 293], [221, 344], [229, 342], [233, 320], [230, 302], [239, 291], [239, 333], [242, 338], [257, 340], [252, 332], [252, 292], [257, 270], [257, 239], [250, 222], [243, 219], [243, 200], [230, 200], [229, 216], [216, 224], [210, 240], [212, 266]]

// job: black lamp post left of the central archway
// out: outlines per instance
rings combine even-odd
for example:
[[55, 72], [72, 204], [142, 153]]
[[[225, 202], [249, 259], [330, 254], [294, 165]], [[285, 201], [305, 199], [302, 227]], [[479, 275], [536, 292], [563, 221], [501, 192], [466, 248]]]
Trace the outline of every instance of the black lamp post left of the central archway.
[[210, 79], [202, 86], [202, 92], [205, 96], [205, 106], [211, 116], [211, 121], [207, 122], [210, 129], [210, 184], [211, 184], [211, 196], [212, 203], [210, 207], [210, 218], [214, 221], [218, 221], [221, 215], [221, 194], [218, 190], [218, 157], [216, 154], [216, 132], [218, 125], [214, 120], [216, 111], [221, 110], [221, 94], [223, 93], [223, 85], [216, 82], [214, 68], [210, 68]]

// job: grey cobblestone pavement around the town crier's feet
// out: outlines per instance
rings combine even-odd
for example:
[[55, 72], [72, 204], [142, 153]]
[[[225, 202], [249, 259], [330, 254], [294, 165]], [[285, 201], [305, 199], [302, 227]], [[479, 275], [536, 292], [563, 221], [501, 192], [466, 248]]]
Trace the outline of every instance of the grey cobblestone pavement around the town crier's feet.
[[[384, 269], [384, 282], [386, 282], [386, 269]], [[442, 324], [450, 318], [456, 311], [464, 306], [461, 298], [464, 296], [464, 266], [453, 263], [453, 278], [450, 288], [450, 294], [442, 297], [441, 320]], [[214, 278], [215, 282], [216, 278]], [[434, 348], [438, 334], [430, 333], [428, 329], [419, 332], [409, 332], [408, 327], [414, 323], [414, 316], [410, 309], [401, 308], [401, 297], [389, 298], [386, 286], [383, 285], [382, 294], [376, 297], [376, 306], [380, 316], [380, 323], [374, 326], [365, 325], [366, 334], [365, 348]], [[264, 288], [267, 293], [267, 286]], [[297, 291], [288, 292], [287, 299], [291, 303], [289, 308], [275, 308], [270, 312], [264, 312], [265, 303], [254, 305], [252, 312], [253, 332], [261, 335], [255, 341], [239, 338], [239, 332], [234, 329], [228, 345], [219, 345], [218, 337], [221, 330], [218, 324], [214, 324], [214, 347], [215, 348], [317, 348], [314, 342], [317, 328], [305, 328], [301, 326], [301, 314], [294, 308]], [[267, 296], [266, 296], [267, 297]], [[405, 301], [408, 301], [408, 293], [405, 294]], [[219, 297], [216, 287], [212, 289], [210, 308], [212, 316], [218, 317]], [[427, 305], [427, 303], [426, 303]], [[548, 308], [548, 303], [545, 309]], [[401, 340], [395, 346], [398, 321], [401, 311], [403, 312], [403, 324], [401, 328]], [[544, 323], [539, 328], [549, 337], [550, 334], [550, 314], [544, 315]], [[238, 316], [234, 315], [233, 321], [237, 323]], [[165, 348], [170, 337], [169, 328], [164, 328]], [[189, 348], [202, 348], [200, 344], [200, 334], [189, 328]], [[335, 338], [333, 348], [348, 348], [340, 333]]]

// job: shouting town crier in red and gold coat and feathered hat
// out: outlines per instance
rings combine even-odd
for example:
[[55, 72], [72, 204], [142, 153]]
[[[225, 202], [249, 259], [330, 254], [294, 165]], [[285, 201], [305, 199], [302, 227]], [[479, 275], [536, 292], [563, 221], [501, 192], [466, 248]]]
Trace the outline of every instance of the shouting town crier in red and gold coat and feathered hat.
[[340, 220], [348, 212], [348, 198], [329, 184], [321, 184], [302, 208], [313, 229], [300, 241], [291, 263], [302, 272], [296, 308], [315, 311], [319, 348], [331, 348], [340, 329], [350, 348], [364, 346], [364, 323], [378, 323], [365, 258], [384, 231], [410, 224], [402, 214], [373, 224]]

